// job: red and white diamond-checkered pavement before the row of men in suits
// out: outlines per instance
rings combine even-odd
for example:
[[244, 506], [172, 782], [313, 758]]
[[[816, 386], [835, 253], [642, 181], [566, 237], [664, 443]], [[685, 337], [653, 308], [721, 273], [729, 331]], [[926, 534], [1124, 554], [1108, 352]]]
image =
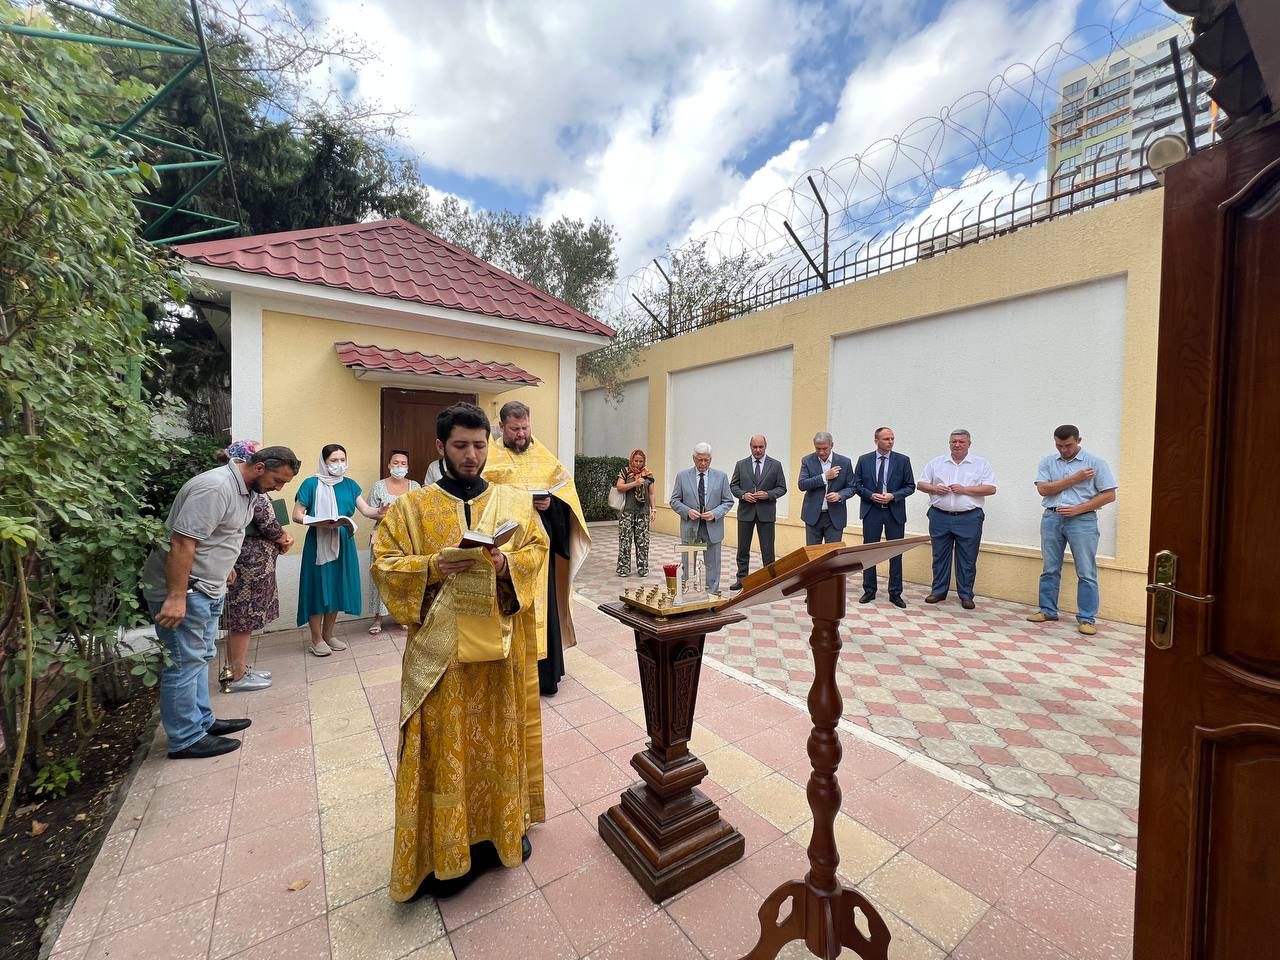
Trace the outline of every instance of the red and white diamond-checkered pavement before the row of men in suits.
[[[596, 602], [617, 599], [637, 582], [614, 576], [617, 525], [593, 524], [591, 538], [577, 590]], [[652, 535], [652, 580], [658, 580], [659, 558], [675, 558], [676, 543]], [[724, 554], [727, 586], [732, 549]], [[758, 566], [753, 557], [751, 568]], [[840, 654], [845, 718], [1133, 863], [1142, 630], [1102, 622], [1096, 636], [1085, 637], [1069, 616], [1037, 626], [1025, 621], [1034, 608], [1004, 600], [979, 596], [975, 611], [964, 611], [952, 593], [931, 605], [924, 603], [928, 588], [916, 584], [908, 584], [905, 611], [892, 607], [883, 589], [863, 607], [856, 603], [861, 581], [854, 580]], [[799, 598], [753, 608], [749, 620], [709, 636], [707, 654], [804, 698], [813, 680], [808, 637]], [[716, 718], [704, 722], [724, 733]]]

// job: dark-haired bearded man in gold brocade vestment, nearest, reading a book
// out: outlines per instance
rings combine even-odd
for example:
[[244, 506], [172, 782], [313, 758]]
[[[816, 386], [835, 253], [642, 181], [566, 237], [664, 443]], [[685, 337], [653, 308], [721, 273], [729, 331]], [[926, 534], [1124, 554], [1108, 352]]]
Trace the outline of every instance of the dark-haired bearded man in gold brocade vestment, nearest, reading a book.
[[[372, 575], [408, 628], [390, 895], [457, 892], [480, 869], [518, 867], [545, 819], [534, 618], [547, 534], [526, 493], [485, 481], [489, 420], [443, 411], [444, 475], [396, 500], [378, 526]], [[466, 531], [500, 548], [460, 549]]]

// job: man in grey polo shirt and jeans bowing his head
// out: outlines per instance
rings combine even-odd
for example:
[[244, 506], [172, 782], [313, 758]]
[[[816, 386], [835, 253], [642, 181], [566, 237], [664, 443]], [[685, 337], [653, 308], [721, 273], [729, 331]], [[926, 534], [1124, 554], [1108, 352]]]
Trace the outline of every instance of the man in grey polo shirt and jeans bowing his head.
[[264, 447], [183, 484], [169, 509], [169, 548], [156, 547], [142, 571], [142, 594], [172, 663], [160, 673], [160, 722], [172, 759], [218, 756], [239, 748], [224, 736], [247, 719], [214, 719], [209, 662], [218, 655], [218, 620], [253, 494], [279, 490], [302, 465], [288, 447]]

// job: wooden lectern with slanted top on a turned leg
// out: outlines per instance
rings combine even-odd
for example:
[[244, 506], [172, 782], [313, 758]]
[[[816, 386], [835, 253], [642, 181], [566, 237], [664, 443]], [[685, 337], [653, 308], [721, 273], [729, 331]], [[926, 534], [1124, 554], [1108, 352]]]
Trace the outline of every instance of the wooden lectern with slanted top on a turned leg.
[[[876, 908], [856, 890], [841, 886], [836, 878], [840, 854], [836, 850], [836, 814], [840, 812], [840, 737], [836, 724], [844, 709], [836, 686], [836, 660], [840, 657], [840, 621], [845, 616], [845, 586], [850, 573], [883, 563], [914, 547], [929, 543], [927, 536], [845, 547], [824, 544], [804, 547], [777, 563], [751, 573], [742, 581], [742, 593], [717, 608], [728, 613], [739, 607], [773, 603], [808, 594], [813, 618], [809, 645], [813, 648], [814, 677], [809, 687], [809, 809], [813, 833], [809, 837], [809, 873], [804, 879], [787, 881], [760, 906], [760, 938], [744, 960], [773, 960], [792, 940], [803, 940], [809, 952], [823, 960], [836, 960], [844, 948], [863, 960], [888, 960], [888, 927]], [[786, 919], [782, 908], [790, 901]], [[859, 914], [867, 933], [859, 929]]]

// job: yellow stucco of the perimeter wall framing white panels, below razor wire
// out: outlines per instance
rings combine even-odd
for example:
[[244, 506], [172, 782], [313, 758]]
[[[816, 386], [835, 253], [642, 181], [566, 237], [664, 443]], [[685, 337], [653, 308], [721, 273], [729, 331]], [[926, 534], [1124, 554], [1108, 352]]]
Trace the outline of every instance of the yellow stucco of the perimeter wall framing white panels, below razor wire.
[[[790, 346], [794, 351], [792, 449], [771, 449], [769, 453], [783, 462], [787, 476], [794, 479], [800, 457], [813, 451], [809, 438], [828, 426], [832, 338], [1125, 275], [1121, 466], [1117, 476], [1123, 509], [1117, 517], [1116, 557], [1098, 561], [1098, 585], [1102, 617], [1142, 622], [1151, 515], [1162, 204], [1164, 191], [1151, 191], [653, 346], [626, 374], [628, 380], [649, 381], [650, 468], [659, 477], [667, 475], [663, 462], [667, 390], [668, 375], [675, 371]], [[1066, 361], [1069, 356], [1070, 332], [1066, 330], [1060, 346], [1047, 347], [1046, 362]], [[589, 389], [593, 385], [579, 387]], [[1044, 448], [1028, 451], [1029, 458], [1052, 453], [1048, 430]], [[675, 466], [684, 468], [686, 463]], [[658, 502], [664, 504], [666, 498], [663, 492]], [[780, 553], [804, 544], [799, 512], [796, 503], [791, 509], [795, 516], [778, 521]], [[666, 507], [659, 511], [657, 526], [668, 534], [678, 530], [675, 515]], [[854, 520], [846, 530], [846, 540], [858, 543], [859, 539], [859, 524]], [[736, 541], [733, 524], [726, 526], [726, 541]], [[731, 557], [728, 550], [726, 557]], [[927, 549], [909, 553], [904, 566], [906, 579], [928, 584], [929, 562]], [[1034, 607], [1039, 572], [1038, 550], [983, 547], [979, 576], [980, 590], [987, 595]], [[1062, 576], [1064, 611], [1074, 611], [1074, 570], [1069, 562]]]

